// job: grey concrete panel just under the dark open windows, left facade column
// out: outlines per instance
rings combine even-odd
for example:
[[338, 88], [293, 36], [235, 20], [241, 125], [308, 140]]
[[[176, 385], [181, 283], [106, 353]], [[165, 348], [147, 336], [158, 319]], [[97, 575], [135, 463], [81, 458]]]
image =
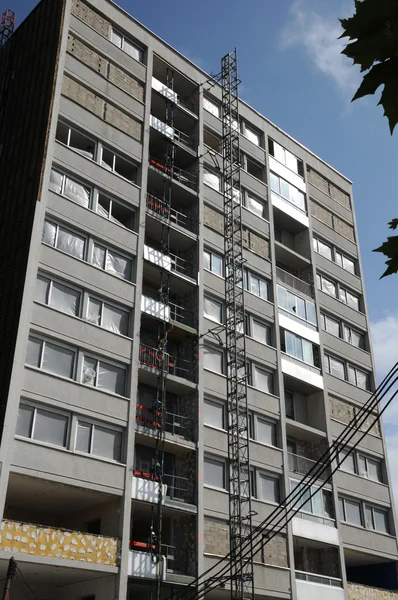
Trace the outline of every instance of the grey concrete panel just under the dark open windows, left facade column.
[[54, 164], [64, 167], [88, 183], [95, 183], [100, 189], [109, 192], [115, 198], [121, 198], [135, 206], [139, 204], [140, 188], [123, 177], [111, 173], [98, 163], [83, 158], [78, 152], [63, 144], [55, 144]]

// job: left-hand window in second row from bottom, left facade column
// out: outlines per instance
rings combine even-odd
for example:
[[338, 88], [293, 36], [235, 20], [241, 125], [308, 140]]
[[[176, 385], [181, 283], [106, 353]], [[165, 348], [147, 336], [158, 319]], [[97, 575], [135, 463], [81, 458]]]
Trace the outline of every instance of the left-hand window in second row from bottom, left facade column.
[[29, 336], [26, 364], [44, 371], [73, 378], [76, 352], [67, 346], [60, 346], [48, 340]]

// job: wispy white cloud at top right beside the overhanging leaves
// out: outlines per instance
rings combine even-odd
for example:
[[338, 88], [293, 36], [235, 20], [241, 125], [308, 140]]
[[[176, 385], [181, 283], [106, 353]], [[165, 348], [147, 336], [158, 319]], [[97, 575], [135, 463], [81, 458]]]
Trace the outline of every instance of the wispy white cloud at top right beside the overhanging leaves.
[[[347, 42], [339, 40], [339, 17], [346, 16], [346, 5], [316, 0], [293, 0], [287, 25], [281, 32], [282, 49], [302, 47], [311, 62], [327, 75], [344, 95], [351, 96], [360, 81], [358, 70], [341, 54]], [[325, 14], [327, 10], [327, 14]], [[351, 14], [353, 10], [351, 7]]]

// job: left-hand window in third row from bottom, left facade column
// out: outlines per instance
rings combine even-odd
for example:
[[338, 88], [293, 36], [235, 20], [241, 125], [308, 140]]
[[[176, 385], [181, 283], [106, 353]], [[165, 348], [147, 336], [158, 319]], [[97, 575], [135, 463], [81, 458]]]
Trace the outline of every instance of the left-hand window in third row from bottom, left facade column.
[[82, 292], [64, 283], [38, 275], [36, 280], [35, 301], [47, 304], [67, 315], [80, 315]]

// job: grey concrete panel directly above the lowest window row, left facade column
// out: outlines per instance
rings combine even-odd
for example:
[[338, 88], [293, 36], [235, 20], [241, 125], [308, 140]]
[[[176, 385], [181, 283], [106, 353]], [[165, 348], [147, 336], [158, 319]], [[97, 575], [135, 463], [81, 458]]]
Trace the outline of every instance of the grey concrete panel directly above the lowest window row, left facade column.
[[127, 398], [113, 396], [38, 369], [25, 368], [21, 393], [26, 398], [47, 401], [64, 410], [90, 415], [93, 419], [106, 419], [122, 426], [127, 422]]

